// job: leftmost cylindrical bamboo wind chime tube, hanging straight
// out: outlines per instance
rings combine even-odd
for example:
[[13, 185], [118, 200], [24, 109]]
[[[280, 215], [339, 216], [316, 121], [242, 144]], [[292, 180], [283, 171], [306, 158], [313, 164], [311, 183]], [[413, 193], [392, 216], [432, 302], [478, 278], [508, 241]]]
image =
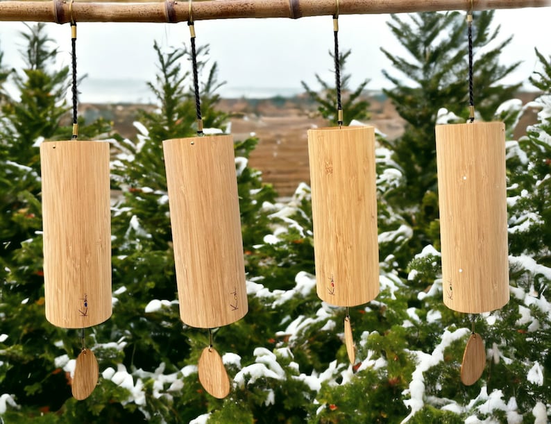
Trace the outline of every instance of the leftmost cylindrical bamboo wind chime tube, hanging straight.
[[103, 323], [112, 313], [109, 144], [44, 142], [40, 160], [46, 319]]

